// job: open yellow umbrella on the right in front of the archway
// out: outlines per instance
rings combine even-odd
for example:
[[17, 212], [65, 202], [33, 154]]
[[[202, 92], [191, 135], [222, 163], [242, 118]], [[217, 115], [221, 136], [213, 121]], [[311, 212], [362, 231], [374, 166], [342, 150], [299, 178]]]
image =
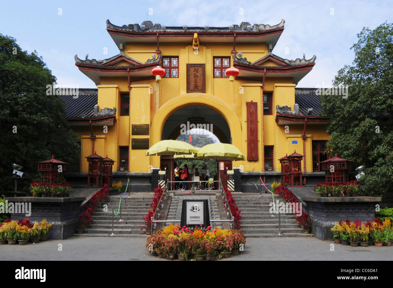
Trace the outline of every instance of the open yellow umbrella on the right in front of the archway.
[[226, 143], [208, 144], [199, 149], [196, 158], [239, 161], [246, 160], [236, 146]]

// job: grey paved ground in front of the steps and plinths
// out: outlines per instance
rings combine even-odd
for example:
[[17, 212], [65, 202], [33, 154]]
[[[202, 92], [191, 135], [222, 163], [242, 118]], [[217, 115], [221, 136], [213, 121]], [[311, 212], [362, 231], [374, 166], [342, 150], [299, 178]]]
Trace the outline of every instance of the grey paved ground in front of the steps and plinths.
[[[163, 260], [149, 255], [144, 237], [71, 237], [26, 246], [0, 245], [0, 260]], [[58, 251], [62, 244], [62, 251]], [[248, 238], [228, 260], [391, 260], [393, 246], [350, 247], [314, 237]], [[167, 261], [167, 260], [165, 260]]]

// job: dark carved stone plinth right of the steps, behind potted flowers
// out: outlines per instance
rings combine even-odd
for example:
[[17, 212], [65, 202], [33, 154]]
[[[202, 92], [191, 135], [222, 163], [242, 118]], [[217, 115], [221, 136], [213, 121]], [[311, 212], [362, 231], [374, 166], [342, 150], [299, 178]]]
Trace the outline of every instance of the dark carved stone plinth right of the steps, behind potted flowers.
[[372, 222], [375, 217], [375, 205], [382, 198], [303, 196], [301, 200], [307, 204], [306, 209], [311, 218], [311, 232], [317, 238], [331, 240], [333, 232], [330, 229], [336, 221], [345, 221], [348, 218], [351, 222], [355, 219]]

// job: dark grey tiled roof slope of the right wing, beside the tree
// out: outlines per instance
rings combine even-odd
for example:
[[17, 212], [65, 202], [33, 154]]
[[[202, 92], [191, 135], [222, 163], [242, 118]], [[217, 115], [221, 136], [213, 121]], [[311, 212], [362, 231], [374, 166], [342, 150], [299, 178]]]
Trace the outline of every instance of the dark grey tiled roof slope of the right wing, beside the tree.
[[316, 88], [295, 88], [295, 103], [299, 104], [301, 114], [309, 115], [309, 108], [312, 108], [310, 116], [322, 114], [321, 98], [320, 95], [316, 95], [316, 90]]

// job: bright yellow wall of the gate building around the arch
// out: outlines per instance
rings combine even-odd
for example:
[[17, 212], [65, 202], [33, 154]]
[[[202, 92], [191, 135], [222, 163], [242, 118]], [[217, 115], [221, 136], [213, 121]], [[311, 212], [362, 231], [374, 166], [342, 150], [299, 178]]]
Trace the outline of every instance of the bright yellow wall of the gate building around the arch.
[[[274, 170], [279, 171], [278, 159], [286, 153], [296, 152], [303, 154], [303, 125], [289, 125], [289, 132], [285, 132], [283, 125], [275, 122], [275, 106], [290, 106], [295, 104], [295, 84], [292, 77], [266, 77], [262, 90], [261, 81], [240, 80], [230, 82], [228, 78], [213, 78], [213, 57], [231, 57], [232, 43], [200, 43], [198, 53], [189, 43], [160, 43], [163, 56], [179, 57], [179, 77], [163, 78], [160, 83], [153, 79], [132, 81], [131, 91], [128, 88], [127, 77], [101, 77], [98, 85], [98, 105], [117, 108], [116, 123], [108, 127], [108, 132], [103, 133], [103, 127], [94, 126], [96, 135], [95, 151], [98, 154], [115, 160], [114, 171], [119, 169], [119, 146], [129, 147], [129, 171], [147, 172], [149, 165], [158, 167], [160, 157], [145, 156], [145, 150], [131, 149], [132, 139], [149, 138], [149, 145], [160, 141], [163, 125], [166, 119], [176, 110], [187, 105], [202, 105], [219, 112], [226, 119], [230, 128], [233, 145], [237, 146], [247, 156], [247, 131], [246, 131], [246, 102], [253, 101], [258, 106], [258, 161], [238, 161], [234, 166], [243, 165], [244, 171], [263, 171], [263, 145], [274, 146]], [[156, 43], [129, 42], [125, 46], [125, 55], [145, 63], [151, 59], [151, 54], [156, 53]], [[237, 51], [242, 52], [242, 57], [248, 61], [256, 61], [268, 53], [265, 43], [237, 43]], [[116, 65], [126, 65], [127, 61], [120, 61]], [[206, 73], [206, 93], [188, 93], [186, 89], [186, 64], [204, 63]], [[231, 57], [231, 65], [233, 59]], [[276, 66], [274, 61], [266, 61], [264, 65]], [[132, 77], [132, 75], [131, 75]], [[263, 112], [263, 92], [271, 92], [272, 114], [261, 117]], [[130, 94], [130, 115], [120, 116], [120, 95]], [[150, 125], [149, 135], [130, 135], [132, 124]], [[82, 172], [87, 172], [86, 156], [92, 154], [92, 140], [90, 127], [74, 127], [81, 137], [81, 162]], [[324, 125], [308, 125], [305, 141], [306, 171], [312, 172], [312, 140], [327, 140]], [[292, 141], [298, 141], [292, 144]], [[303, 167], [303, 163], [302, 163]]]

